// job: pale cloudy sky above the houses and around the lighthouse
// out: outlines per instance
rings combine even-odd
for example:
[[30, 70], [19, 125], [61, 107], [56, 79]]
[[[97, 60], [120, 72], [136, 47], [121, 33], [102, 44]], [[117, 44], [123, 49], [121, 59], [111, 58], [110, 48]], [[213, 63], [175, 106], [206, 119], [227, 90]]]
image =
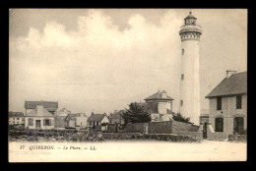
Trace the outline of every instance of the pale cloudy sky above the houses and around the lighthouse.
[[58, 101], [91, 114], [128, 108], [160, 90], [178, 111], [181, 41], [189, 12], [202, 27], [201, 108], [226, 70], [247, 71], [247, 10], [11, 9], [9, 111]]

